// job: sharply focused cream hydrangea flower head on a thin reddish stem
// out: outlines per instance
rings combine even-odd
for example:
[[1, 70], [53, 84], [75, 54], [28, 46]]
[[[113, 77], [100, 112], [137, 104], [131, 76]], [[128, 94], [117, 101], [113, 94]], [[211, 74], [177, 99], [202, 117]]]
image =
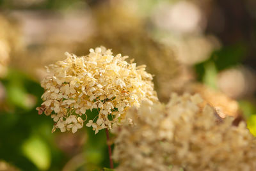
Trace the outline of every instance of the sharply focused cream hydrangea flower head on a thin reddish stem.
[[104, 47], [91, 48], [87, 56], [66, 56], [64, 61], [47, 67], [53, 75], [41, 82], [44, 102], [37, 110], [38, 114], [51, 115], [52, 131], [60, 128], [75, 133], [83, 127], [86, 111], [95, 108], [99, 114], [86, 126], [92, 126], [97, 133], [122, 124], [128, 108], [139, 107], [141, 101], [157, 100], [152, 75], [145, 66], [125, 61], [127, 56], [113, 56]]

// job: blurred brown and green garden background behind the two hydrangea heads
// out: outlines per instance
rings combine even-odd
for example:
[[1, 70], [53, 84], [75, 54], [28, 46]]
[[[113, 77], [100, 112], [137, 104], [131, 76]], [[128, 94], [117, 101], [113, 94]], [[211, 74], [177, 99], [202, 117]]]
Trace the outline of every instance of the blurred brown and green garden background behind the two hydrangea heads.
[[44, 66], [100, 45], [147, 64], [159, 100], [200, 93], [256, 135], [255, 0], [0, 0], [1, 171], [109, 167], [104, 131], [51, 133], [35, 110]]

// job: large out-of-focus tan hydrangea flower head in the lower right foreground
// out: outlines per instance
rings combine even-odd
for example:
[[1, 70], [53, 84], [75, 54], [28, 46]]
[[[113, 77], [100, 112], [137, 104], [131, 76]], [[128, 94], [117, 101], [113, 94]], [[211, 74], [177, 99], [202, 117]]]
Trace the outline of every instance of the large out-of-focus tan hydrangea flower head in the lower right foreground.
[[116, 133], [116, 170], [256, 170], [256, 142], [244, 122], [221, 119], [196, 94], [143, 103]]

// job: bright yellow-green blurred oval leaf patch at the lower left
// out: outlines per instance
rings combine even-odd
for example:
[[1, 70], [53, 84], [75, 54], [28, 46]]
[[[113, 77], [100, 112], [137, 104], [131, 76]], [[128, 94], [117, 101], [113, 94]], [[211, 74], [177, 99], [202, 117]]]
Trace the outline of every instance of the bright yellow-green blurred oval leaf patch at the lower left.
[[51, 165], [51, 151], [48, 145], [38, 136], [33, 136], [22, 145], [24, 155], [39, 170], [47, 170]]

